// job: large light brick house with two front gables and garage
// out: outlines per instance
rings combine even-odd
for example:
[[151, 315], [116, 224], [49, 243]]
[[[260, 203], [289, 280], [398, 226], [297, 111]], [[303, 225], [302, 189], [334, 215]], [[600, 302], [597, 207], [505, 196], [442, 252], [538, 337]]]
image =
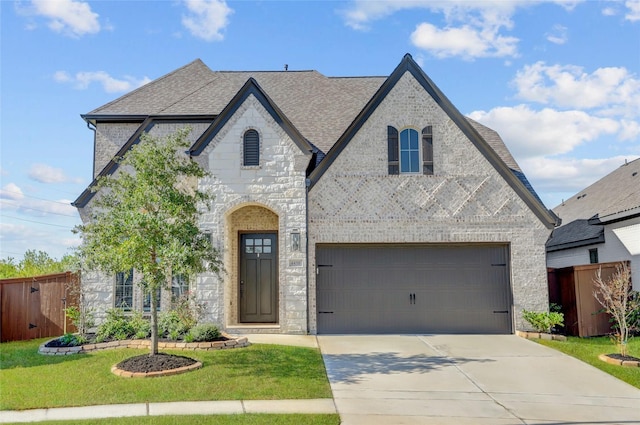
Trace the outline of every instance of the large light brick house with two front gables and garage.
[[[500, 136], [406, 55], [389, 77], [214, 72], [196, 60], [83, 118], [94, 177], [192, 129], [215, 195], [201, 228], [226, 272], [175, 279], [230, 332], [513, 333], [548, 306], [556, 217]], [[75, 201], [83, 220], [93, 194]], [[85, 274], [99, 311], [145, 308], [137, 275]], [[171, 291], [163, 291], [166, 307]]]

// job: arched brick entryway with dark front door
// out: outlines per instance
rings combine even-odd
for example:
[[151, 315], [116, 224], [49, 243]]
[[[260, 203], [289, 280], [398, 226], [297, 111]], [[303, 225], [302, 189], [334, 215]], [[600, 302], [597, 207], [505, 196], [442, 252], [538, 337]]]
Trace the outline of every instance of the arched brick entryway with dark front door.
[[245, 205], [227, 216], [230, 323], [278, 323], [278, 215]]

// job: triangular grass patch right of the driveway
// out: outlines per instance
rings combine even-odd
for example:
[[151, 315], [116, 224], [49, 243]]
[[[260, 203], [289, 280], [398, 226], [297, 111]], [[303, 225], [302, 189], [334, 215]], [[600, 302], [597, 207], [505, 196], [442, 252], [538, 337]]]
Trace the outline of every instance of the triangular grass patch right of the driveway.
[[[562, 351], [572, 357], [582, 360], [596, 368], [615, 376], [616, 378], [640, 388], [640, 367], [622, 367], [605, 363], [598, 358], [600, 354], [616, 353], [617, 349], [608, 337], [578, 338], [568, 337], [566, 342], [536, 340], [542, 345]], [[629, 341], [630, 356], [640, 358], [640, 338]]]

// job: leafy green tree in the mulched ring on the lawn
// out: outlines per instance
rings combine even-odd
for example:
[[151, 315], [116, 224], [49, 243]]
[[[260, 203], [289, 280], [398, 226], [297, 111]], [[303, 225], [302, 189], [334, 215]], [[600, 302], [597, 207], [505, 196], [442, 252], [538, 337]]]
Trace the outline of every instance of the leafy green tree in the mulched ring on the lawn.
[[89, 269], [140, 273], [151, 299], [151, 355], [158, 353], [158, 292], [172, 274], [218, 272], [211, 240], [198, 228], [198, 207], [212, 196], [197, 188], [207, 173], [184, 154], [183, 129], [165, 138], [143, 134], [122, 158], [117, 173], [98, 179], [91, 219], [78, 226], [78, 251]]

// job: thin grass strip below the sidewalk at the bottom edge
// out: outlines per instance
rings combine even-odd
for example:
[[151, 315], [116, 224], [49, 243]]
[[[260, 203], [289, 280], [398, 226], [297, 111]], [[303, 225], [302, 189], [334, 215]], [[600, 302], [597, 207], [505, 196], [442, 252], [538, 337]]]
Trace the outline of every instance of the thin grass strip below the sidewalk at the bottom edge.
[[145, 416], [134, 418], [90, 419], [83, 421], [45, 421], [43, 425], [339, 425], [338, 415], [211, 415]]

